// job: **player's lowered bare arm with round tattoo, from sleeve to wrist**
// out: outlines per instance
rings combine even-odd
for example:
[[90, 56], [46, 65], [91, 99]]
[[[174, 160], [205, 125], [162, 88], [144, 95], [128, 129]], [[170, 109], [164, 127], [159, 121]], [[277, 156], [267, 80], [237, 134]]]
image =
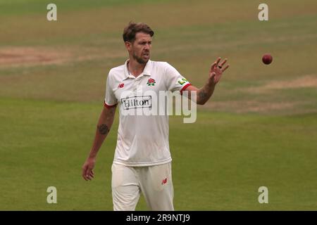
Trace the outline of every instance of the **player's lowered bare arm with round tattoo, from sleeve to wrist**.
[[104, 143], [104, 139], [106, 139], [106, 136], [111, 129], [115, 113], [116, 107], [109, 109], [104, 108], [102, 110], [97, 124], [96, 134], [94, 136], [94, 143], [92, 144], [92, 148], [89, 153], [89, 158], [96, 158], [102, 143]]

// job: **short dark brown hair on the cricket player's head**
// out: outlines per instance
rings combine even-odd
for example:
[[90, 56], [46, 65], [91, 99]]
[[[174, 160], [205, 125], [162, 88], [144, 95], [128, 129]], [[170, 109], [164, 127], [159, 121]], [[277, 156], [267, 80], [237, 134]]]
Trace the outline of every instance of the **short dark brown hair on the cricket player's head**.
[[154, 35], [154, 31], [151, 30], [151, 28], [147, 24], [130, 22], [128, 26], [126, 26], [123, 30], [123, 41], [135, 41], [135, 34], [137, 34], [138, 32], [150, 34], [151, 37], [153, 37]]

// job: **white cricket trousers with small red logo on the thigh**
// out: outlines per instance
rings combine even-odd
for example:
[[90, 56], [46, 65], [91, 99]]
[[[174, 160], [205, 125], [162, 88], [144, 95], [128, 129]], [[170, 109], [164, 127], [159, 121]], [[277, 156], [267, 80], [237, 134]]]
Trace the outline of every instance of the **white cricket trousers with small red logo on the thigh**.
[[150, 210], [173, 211], [171, 162], [150, 167], [127, 167], [113, 163], [113, 210], [135, 210], [142, 193]]

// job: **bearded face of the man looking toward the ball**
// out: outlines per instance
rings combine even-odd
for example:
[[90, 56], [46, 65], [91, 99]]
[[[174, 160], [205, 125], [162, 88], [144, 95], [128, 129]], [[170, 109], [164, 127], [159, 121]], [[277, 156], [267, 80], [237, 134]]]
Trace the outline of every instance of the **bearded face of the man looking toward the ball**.
[[150, 57], [152, 38], [150, 34], [139, 32], [135, 34], [135, 41], [126, 44], [132, 57], [140, 64], [146, 64]]

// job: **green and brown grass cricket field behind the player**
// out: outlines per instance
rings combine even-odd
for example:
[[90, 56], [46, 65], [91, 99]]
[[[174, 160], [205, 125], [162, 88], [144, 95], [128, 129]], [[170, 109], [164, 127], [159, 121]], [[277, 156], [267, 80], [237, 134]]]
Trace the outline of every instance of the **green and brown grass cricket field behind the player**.
[[[81, 167], [108, 70], [128, 57], [130, 20], [156, 32], [151, 59], [195, 86], [218, 56], [230, 62], [197, 122], [170, 117], [175, 210], [317, 210], [315, 0], [266, 1], [266, 22], [251, 0], [58, 0], [55, 22], [49, 3], [0, 0], [0, 210], [112, 210], [118, 115], [95, 179]], [[46, 203], [49, 186], [57, 204]], [[137, 210], [147, 210], [143, 198]]]

